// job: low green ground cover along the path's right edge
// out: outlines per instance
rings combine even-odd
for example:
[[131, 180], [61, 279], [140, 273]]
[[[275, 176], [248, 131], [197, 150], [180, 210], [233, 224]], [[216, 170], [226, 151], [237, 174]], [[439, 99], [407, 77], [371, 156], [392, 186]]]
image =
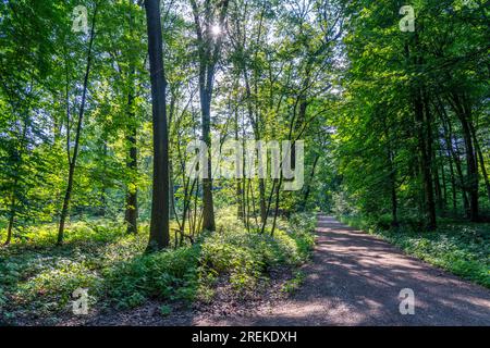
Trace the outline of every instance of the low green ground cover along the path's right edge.
[[434, 232], [404, 224], [382, 228], [384, 223], [359, 216], [340, 216], [343, 223], [378, 235], [430, 264], [490, 288], [490, 223], [440, 220]]

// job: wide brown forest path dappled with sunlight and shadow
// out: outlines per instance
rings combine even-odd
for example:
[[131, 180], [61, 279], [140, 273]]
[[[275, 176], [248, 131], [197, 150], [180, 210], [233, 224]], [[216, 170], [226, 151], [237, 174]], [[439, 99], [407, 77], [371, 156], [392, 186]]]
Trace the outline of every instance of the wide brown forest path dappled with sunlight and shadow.
[[[334, 217], [320, 215], [302, 287], [249, 315], [194, 319], [194, 325], [490, 325], [490, 290], [404, 254]], [[401, 314], [400, 291], [415, 294]]]

